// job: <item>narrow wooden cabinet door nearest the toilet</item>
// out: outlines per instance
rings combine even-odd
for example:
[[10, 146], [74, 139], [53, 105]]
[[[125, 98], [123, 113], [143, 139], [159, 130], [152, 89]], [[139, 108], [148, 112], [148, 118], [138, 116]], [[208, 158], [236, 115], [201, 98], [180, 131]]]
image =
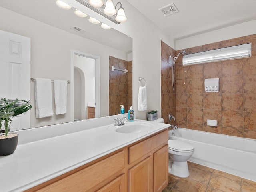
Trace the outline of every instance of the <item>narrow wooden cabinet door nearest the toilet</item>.
[[154, 192], [161, 192], [168, 184], [168, 144], [154, 153]]

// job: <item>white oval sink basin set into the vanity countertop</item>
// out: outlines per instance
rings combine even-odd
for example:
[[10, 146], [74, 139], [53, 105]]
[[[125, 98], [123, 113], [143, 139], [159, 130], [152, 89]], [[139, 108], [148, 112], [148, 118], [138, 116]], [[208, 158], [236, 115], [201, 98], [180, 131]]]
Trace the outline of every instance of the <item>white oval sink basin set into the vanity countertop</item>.
[[114, 130], [118, 133], [140, 133], [144, 131], [148, 131], [153, 127], [150, 123], [144, 122], [128, 122], [124, 125], [120, 126], [109, 126], [108, 130]]

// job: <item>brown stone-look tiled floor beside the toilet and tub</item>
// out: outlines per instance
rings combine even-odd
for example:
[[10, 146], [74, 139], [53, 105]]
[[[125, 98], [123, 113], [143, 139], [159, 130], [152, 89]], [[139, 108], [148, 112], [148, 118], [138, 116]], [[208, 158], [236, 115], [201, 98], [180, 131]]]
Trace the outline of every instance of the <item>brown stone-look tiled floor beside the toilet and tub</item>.
[[188, 162], [188, 169], [187, 178], [169, 174], [162, 192], [256, 192], [256, 182], [192, 162]]

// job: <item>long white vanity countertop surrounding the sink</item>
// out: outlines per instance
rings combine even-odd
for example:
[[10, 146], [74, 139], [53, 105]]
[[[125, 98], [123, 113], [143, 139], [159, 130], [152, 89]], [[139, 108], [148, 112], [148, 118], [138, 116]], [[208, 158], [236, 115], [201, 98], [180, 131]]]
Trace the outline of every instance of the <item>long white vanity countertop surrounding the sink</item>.
[[[90, 123], [95, 121], [97, 119]], [[84, 127], [89, 126], [88, 122], [84, 121]], [[154, 124], [154, 128], [136, 134], [110, 131], [107, 127], [113, 125], [111, 122], [104, 126], [22, 142], [13, 154], [0, 157], [1, 192], [27, 190], [170, 126], [150, 123]], [[19, 134], [19, 140], [21, 136]]]

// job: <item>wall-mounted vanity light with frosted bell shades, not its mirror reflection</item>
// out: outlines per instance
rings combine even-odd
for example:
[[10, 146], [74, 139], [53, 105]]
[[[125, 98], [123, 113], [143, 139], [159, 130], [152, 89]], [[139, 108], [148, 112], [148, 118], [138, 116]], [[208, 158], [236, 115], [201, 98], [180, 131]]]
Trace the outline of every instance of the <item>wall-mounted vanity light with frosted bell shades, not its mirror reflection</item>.
[[[124, 8], [122, 7], [121, 2], [118, 2], [114, 6], [112, 0], [106, 0], [106, 3], [105, 0], [88, 0], [88, 3], [85, 0], [76, 1], [116, 24], [120, 24], [122, 22], [127, 21], [127, 17], [125, 15]], [[118, 4], [120, 4], [120, 7], [117, 11], [116, 8]]]

